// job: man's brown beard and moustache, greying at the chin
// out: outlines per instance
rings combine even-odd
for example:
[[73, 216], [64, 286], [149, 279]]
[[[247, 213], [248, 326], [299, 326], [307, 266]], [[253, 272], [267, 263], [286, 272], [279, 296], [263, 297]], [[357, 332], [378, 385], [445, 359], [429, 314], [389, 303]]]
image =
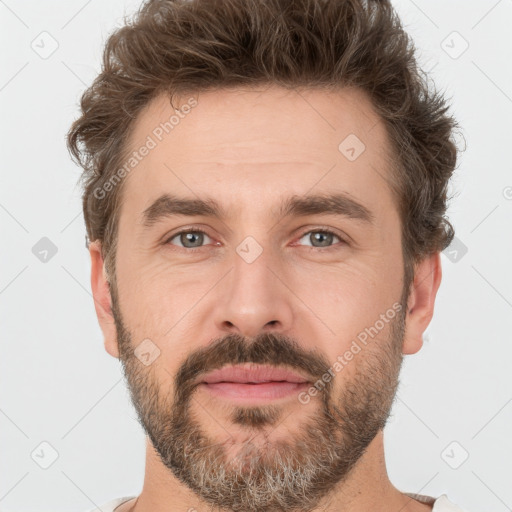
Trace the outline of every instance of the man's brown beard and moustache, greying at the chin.
[[300, 428], [272, 439], [269, 434], [287, 417], [286, 406], [233, 406], [231, 424], [245, 427], [247, 434], [243, 440], [227, 434], [220, 442], [194, 415], [198, 376], [224, 365], [254, 363], [300, 370], [317, 382], [332, 363], [279, 333], [262, 333], [250, 341], [229, 334], [192, 352], [174, 376], [170, 393], [153, 371], [158, 363], [146, 367], [134, 355], [136, 343], [115, 293], [112, 311], [139, 423], [162, 463], [209, 505], [234, 512], [310, 512], [349, 477], [386, 425], [403, 360], [405, 307], [390, 320], [388, 337], [374, 338], [341, 371], [339, 396], [333, 386], [339, 378], [322, 381], [324, 388], [312, 398], [317, 400], [311, 404], [314, 414], [293, 422]]

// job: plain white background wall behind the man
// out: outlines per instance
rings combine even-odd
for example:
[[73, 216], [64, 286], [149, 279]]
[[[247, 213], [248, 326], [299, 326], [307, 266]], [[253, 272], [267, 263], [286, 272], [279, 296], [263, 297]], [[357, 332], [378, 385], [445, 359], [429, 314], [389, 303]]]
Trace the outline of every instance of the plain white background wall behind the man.
[[[447, 493], [469, 512], [504, 512], [512, 510], [512, 1], [394, 4], [422, 67], [451, 99], [467, 149], [449, 209], [458, 259], [443, 254], [425, 345], [406, 356], [386, 428], [389, 475], [402, 491]], [[90, 295], [80, 169], [65, 147], [108, 34], [138, 6], [0, 1], [4, 512], [83, 512], [141, 490], [144, 436], [120, 364], [103, 349]], [[51, 47], [43, 31], [58, 43], [46, 59], [31, 47], [42, 46], [41, 37]], [[462, 38], [469, 48], [453, 58]], [[46, 263], [32, 252], [43, 237], [57, 248]], [[48, 469], [31, 458], [36, 450], [49, 461], [43, 441], [58, 453]], [[466, 452], [458, 469], [446, 462], [457, 465]]]

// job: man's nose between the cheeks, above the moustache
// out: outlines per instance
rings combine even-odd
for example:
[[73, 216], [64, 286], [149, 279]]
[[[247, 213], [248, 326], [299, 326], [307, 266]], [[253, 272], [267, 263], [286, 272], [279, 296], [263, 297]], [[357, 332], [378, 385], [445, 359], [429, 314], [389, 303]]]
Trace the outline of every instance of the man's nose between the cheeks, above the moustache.
[[216, 327], [246, 337], [290, 330], [294, 295], [279, 261], [266, 250], [252, 262], [241, 254], [219, 288]]

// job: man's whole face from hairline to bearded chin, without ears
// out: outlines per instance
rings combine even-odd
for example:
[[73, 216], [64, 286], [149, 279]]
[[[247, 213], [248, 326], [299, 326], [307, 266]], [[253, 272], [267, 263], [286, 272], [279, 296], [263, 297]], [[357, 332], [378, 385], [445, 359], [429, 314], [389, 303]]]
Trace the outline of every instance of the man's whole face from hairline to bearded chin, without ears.
[[[162, 462], [199, 496], [310, 510], [383, 428], [398, 383], [405, 289], [389, 143], [355, 90], [196, 99], [162, 140], [175, 112], [155, 99], [131, 138], [133, 150], [156, 144], [124, 183], [120, 358]], [[184, 204], [164, 215], [171, 202], [151, 207], [163, 194], [214, 200], [223, 215]], [[324, 200], [281, 215], [290, 198], [327, 195], [360, 207], [322, 211], [334, 204]], [[269, 365], [294, 375], [211, 378]]]

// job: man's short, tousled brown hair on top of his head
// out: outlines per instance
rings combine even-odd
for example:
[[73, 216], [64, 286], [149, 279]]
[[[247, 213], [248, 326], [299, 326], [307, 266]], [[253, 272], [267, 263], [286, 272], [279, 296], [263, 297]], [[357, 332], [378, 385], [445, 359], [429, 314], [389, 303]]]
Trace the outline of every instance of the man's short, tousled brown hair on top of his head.
[[100, 240], [115, 281], [122, 184], [94, 190], [126, 160], [134, 120], [158, 94], [275, 84], [357, 87], [391, 141], [402, 222], [405, 283], [414, 264], [454, 236], [445, 218], [457, 126], [418, 69], [415, 48], [389, 0], [149, 0], [106, 42], [99, 76], [83, 93], [67, 135], [83, 167], [89, 240]]

